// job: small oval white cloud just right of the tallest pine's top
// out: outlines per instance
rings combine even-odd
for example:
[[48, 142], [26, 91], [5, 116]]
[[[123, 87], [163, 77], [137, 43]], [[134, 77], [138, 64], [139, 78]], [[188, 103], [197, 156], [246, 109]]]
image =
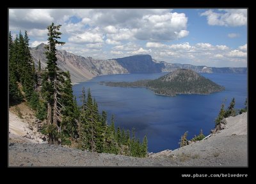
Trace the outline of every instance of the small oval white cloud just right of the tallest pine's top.
[[84, 44], [84, 43], [102, 43], [102, 35], [95, 33], [93, 34], [92, 32], [84, 32], [83, 34], [76, 34], [74, 36], [70, 36], [68, 38], [68, 41], [72, 43], [79, 43], [79, 44]]

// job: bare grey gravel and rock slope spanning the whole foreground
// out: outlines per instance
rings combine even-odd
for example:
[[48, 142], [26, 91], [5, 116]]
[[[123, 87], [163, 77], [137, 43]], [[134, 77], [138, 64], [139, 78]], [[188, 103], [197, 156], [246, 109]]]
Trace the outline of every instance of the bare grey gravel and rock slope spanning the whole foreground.
[[[9, 166], [248, 166], [247, 113], [226, 118], [226, 122], [225, 129], [204, 141], [173, 151], [151, 153], [148, 158], [139, 159], [48, 145], [42, 140], [42, 135], [26, 129], [29, 125], [25, 125], [26, 120], [11, 112]], [[36, 125], [35, 122], [32, 124]]]

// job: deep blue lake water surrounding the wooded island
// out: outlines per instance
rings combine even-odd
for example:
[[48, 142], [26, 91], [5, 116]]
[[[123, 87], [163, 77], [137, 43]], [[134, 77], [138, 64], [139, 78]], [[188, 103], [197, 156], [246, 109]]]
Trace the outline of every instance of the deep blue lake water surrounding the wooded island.
[[125, 129], [135, 127], [136, 136], [148, 138], [148, 152], [173, 150], [179, 147], [179, 139], [188, 131], [188, 138], [205, 135], [214, 128], [221, 103], [226, 107], [232, 97], [236, 98], [235, 108], [244, 108], [247, 97], [247, 74], [202, 74], [206, 78], [223, 85], [226, 89], [210, 95], [178, 95], [176, 97], [157, 96], [147, 88], [122, 88], [100, 85], [99, 81], [136, 81], [155, 79], [166, 73], [115, 74], [93, 78], [73, 86], [74, 95], [79, 96], [85, 87], [95, 97], [100, 112], [115, 115], [115, 125]]

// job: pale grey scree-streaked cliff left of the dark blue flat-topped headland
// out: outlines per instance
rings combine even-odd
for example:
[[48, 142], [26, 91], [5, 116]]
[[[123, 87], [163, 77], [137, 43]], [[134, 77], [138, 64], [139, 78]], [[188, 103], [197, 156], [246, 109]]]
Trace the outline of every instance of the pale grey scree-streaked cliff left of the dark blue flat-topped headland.
[[[35, 60], [35, 65], [38, 66], [40, 59], [43, 68], [47, 66], [44, 46], [42, 43], [30, 49], [31, 55]], [[63, 71], [70, 71], [73, 83], [90, 80], [95, 76], [104, 74], [128, 73], [127, 69], [118, 64], [116, 60], [97, 60], [92, 57], [82, 57], [68, 53], [65, 50], [57, 50], [56, 53], [58, 67]]]

